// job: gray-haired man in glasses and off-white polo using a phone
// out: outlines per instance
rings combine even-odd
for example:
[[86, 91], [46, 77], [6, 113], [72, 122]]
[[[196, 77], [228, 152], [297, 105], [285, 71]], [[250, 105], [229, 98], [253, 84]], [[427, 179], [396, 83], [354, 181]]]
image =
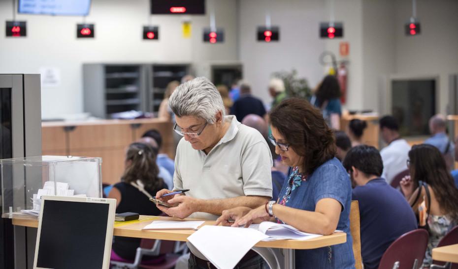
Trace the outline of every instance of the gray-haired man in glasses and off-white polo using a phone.
[[[171, 191], [158, 191], [158, 199], [174, 206], [158, 206], [160, 210], [172, 217], [216, 219], [224, 210], [257, 208], [270, 200], [269, 147], [258, 131], [232, 115], [225, 116], [223, 100], [212, 82], [201, 77], [181, 84], [170, 96], [169, 106], [175, 114], [175, 132], [184, 136], [175, 156], [174, 190], [189, 191], [164, 197]], [[190, 268], [214, 268], [188, 245]], [[262, 267], [262, 258], [250, 251], [237, 268], [258, 265]]]

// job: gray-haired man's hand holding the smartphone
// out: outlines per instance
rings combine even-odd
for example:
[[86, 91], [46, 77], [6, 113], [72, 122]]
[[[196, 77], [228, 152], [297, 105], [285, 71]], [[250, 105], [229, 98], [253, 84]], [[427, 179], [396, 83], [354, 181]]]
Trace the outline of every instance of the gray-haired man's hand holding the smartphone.
[[[179, 218], [185, 218], [195, 212], [199, 212], [200, 203], [202, 202], [202, 200], [196, 199], [193, 197], [189, 197], [186, 195], [175, 194], [174, 196], [175, 197], [173, 197], [173, 199], [168, 199], [167, 203], [177, 204], [178, 206], [170, 207], [170, 208], [164, 207], [161, 205], [156, 205], [156, 206], [165, 214], [172, 216], [172, 217], [179, 217]], [[167, 198], [167, 196], [164, 198]]]

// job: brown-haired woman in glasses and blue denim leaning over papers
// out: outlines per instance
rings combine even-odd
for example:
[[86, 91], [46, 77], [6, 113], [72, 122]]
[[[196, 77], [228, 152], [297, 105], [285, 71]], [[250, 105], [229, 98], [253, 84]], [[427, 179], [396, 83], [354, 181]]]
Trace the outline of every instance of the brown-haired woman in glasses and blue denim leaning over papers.
[[270, 139], [277, 153], [283, 162], [294, 167], [278, 201], [253, 210], [226, 210], [216, 224], [238, 227], [270, 220], [315, 234], [342, 230], [347, 234], [345, 243], [295, 250], [295, 268], [355, 268], [350, 234], [352, 187], [347, 171], [334, 157], [334, 135], [320, 110], [306, 100], [290, 98], [270, 112], [270, 124]]

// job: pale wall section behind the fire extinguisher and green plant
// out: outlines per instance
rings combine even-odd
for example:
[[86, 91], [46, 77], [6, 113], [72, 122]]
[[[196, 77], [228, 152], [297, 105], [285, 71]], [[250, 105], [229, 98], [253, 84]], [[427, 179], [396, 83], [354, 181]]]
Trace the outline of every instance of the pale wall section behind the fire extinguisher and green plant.
[[[296, 69], [313, 88], [325, 75], [319, 56], [329, 50], [339, 57], [339, 43], [350, 43], [348, 107], [360, 109], [362, 83], [361, 0], [335, 1], [335, 20], [344, 23], [344, 38], [319, 38], [319, 23], [329, 21], [329, 1], [324, 0], [239, 0], [240, 61], [244, 79], [251, 82], [255, 95], [270, 102], [267, 84], [272, 73]], [[279, 42], [257, 42], [256, 27], [264, 25], [265, 11], [271, 22], [280, 27]]]

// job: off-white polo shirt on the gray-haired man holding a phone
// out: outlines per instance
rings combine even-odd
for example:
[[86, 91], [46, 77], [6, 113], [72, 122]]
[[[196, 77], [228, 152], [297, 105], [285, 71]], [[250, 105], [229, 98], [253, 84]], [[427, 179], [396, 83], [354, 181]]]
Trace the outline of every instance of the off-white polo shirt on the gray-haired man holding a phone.
[[[207, 154], [195, 150], [184, 138], [175, 156], [174, 189], [190, 189], [187, 196], [224, 199], [259, 195], [272, 197], [272, 156], [256, 130], [225, 116], [230, 127]], [[197, 212], [189, 217], [216, 219], [218, 215]]]

